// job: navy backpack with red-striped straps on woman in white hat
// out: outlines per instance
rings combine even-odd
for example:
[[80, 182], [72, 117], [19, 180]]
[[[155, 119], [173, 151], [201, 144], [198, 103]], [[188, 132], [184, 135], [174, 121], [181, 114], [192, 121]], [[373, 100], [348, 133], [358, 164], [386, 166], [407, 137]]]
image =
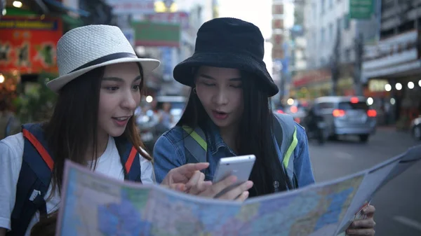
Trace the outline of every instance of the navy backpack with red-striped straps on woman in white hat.
[[[12, 230], [6, 233], [7, 236], [25, 235], [36, 211], [39, 211], [40, 216], [47, 215], [44, 197], [51, 183], [54, 157], [48, 150], [41, 124], [22, 125], [22, 134], [25, 140], [22, 167], [11, 215]], [[124, 179], [142, 183], [138, 151], [126, 139], [115, 140], [123, 165]]]

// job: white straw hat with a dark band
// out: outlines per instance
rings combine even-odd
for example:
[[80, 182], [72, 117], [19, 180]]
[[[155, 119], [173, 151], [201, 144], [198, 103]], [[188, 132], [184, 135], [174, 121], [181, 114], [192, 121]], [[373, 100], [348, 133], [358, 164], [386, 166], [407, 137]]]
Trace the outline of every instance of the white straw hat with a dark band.
[[119, 27], [88, 25], [70, 30], [57, 43], [59, 77], [47, 83], [58, 92], [74, 78], [98, 67], [122, 62], [138, 62], [143, 74], [150, 74], [159, 60], [138, 58]]

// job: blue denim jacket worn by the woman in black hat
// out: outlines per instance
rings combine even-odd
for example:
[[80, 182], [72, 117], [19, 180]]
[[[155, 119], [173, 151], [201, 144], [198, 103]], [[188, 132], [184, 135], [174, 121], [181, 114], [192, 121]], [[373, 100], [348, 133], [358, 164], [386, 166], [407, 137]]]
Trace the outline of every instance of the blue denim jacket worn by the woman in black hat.
[[[222, 140], [218, 127], [211, 122], [209, 126], [210, 128], [206, 131], [209, 167], [205, 174], [206, 180], [212, 181], [218, 160], [235, 156], [236, 153]], [[309, 158], [307, 135], [303, 127], [298, 124], [295, 124], [295, 126], [297, 127], [298, 145], [294, 150], [294, 172], [298, 180], [298, 187], [301, 188], [314, 183], [314, 175]], [[161, 183], [171, 169], [187, 164], [186, 154], [191, 154], [185, 152], [184, 138], [186, 135], [182, 127], [176, 126], [162, 134], [156, 141], [154, 146], [154, 170], [158, 183]], [[275, 139], [274, 144], [279, 157], [282, 159], [283, 153], [279, 150]]]

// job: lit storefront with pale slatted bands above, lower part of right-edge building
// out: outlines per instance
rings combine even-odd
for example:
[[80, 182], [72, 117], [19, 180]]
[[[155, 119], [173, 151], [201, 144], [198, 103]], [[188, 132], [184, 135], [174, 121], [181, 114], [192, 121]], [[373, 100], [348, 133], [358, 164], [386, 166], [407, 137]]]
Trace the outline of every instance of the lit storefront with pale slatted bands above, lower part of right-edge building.
[[420, 33], [416, 30], [366, 46], [363, 83], [387, 113], [387, 123], [408, 128], [421, 114]]

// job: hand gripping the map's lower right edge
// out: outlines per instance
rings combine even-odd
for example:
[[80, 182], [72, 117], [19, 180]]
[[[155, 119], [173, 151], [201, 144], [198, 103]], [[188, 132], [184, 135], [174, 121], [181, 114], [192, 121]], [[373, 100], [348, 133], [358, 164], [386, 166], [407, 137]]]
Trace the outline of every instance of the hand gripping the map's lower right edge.
[[364, 207], [363, 214], [366, 215], [366, 217], [361, 220], [352, 222], [352, 224], [349, 225], [349, 228], [347, 229], [347, 235], [374, 235], [374, 212], [375, 208], [372, 205], [368, 204], [367, 207]]

